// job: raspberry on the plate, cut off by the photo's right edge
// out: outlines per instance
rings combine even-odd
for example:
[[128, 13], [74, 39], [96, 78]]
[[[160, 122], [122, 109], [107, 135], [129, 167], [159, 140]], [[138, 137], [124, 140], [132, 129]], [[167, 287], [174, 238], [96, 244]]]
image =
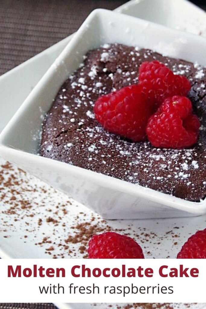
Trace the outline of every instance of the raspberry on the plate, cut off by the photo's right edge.
[[206, 229], [197, 231], [183, 245], [178, 259], [206, 259]]

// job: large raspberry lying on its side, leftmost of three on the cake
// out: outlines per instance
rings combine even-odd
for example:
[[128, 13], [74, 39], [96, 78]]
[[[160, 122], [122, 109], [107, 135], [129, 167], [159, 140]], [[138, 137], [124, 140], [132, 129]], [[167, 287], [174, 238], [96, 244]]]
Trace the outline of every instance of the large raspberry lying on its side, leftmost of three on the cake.
[[140, 142], [146, 139], [146, 125], [153, 111], [139, 86], [132, 85], [99, 97], [94, 112], [104, 129]]

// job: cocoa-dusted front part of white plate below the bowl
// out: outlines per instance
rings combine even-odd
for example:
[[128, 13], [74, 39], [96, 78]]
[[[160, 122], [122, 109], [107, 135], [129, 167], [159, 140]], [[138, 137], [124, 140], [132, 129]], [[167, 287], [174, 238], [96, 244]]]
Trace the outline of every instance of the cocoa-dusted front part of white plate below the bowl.
[[0, 210], [2, 239], [8, 246], [15, 234], [19, 242], [27, 244], [28, 258], [31, 256], [27, 248], [31, 246], [36, 246], [41, 257], [87, 258], [89, 239], [105, 231], [135, 239], [145, 258], [175, 258], [193, 228], [188, 221], [189, 232], [182, 237], [185, 226], [180, 219], [170, 219], [167, 224], [164, 219], [103, 220], [3, 159], [0, 159]]

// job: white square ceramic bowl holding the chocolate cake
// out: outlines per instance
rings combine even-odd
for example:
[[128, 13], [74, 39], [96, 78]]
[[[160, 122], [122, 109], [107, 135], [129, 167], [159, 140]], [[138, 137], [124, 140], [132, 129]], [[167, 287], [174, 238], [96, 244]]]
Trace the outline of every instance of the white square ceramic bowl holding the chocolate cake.
[[[107, 10], [93, 11], [0, 136], [0, 155], [107, 219], [172, 218], [206, 213], [206, 200], [185, 201], [67, 163], [40, 157], [40, 130], [62, 83], [85, 53], [104, 43], [153, 49], [206, 65], [206, 40]], [[34, 138], [36, 136], [36, 138]]]

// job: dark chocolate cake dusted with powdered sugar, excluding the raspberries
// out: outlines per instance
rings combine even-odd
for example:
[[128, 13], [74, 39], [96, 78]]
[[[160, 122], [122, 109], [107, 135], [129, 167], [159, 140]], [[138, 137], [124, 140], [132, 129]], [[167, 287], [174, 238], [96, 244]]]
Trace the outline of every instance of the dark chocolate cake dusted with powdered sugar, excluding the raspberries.
[[[139, 66], [158, 60], [192, 85], [189, 98], [200, 119], [190, 149], [158, 149], [109, 133], [95, 120], [95, 100], [138, 82]], [[206, 68], [148, 49], [104, 44], [62, 85], [44, 117], [40, 155], [152, 188], [188, 201], [206, 196]]]

